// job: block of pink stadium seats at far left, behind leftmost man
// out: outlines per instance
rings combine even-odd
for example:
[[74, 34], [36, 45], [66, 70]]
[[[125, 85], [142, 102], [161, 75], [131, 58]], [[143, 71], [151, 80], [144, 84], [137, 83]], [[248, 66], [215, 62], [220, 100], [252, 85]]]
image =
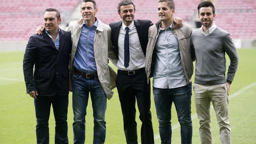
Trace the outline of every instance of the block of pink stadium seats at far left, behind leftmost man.
[[[34, 0], [1, 0], [0, 41], [29, 40], [36, 26], [43, 24], [42, 15], [46, 8], [72, 13], [78, 3], [79, 0], [45, 0], [40, 3]], [[61, 17], [65, 19], [65, 15]]]

